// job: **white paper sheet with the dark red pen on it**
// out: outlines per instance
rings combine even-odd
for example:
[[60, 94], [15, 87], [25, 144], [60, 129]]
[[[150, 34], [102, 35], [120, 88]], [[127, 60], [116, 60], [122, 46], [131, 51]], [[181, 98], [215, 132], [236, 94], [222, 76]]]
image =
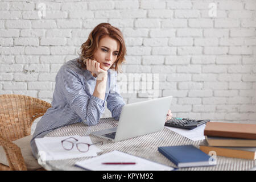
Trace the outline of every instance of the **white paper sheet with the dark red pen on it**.
[[[135, 162], [136, 164], [102, 164], [106, 162]], [[170, 171], [174, 169], [163, 164], [155, 163], [143, 158], [138, 158], [137, 156], [129, 155], [116, 150], [102, 154], [92, 159], [77, 162], [76, 166], [96, 171]]]

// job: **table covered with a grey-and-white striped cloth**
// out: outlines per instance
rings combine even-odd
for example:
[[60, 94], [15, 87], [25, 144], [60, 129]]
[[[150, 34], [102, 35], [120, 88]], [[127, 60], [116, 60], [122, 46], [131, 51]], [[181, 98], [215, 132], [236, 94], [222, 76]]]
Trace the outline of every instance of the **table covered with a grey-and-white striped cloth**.
[[[86, 126], [84, 123], [75, 123], [73, 125], [64, 126], [60, 129], [56, 129], [51, 133], [48, 133], [46, 137], [64, 137], [69, 135], [88, 136], [93, 131], [107, 129], [110, 127], [117, 127], [118, 121], [113, 118], [101, 118], [96, 126]], [[120, 142], [112, 142], [110, 140], [101, 139], [90, 135], [92, 142], [104, 141], [101, 148], [102, 152], [98, 155], [105, 154], [107, 152], [118, 150], [126, 152], [127, 154], [139, 156], [144, 159], [152, 160], [154, 162], [162, 163], [167, 166], [175, 167], [175, 164], [165, 158], [160, 152], [158, 152], [159, 146], [176, 146], [182, 144], [193, 144], [199, 148], [199, 143], [203, 140], [192, 141], [188, 138], [181, 136], [167, 128], [156, 133], [143, 135], [141, 137], [135, 137]], [[90, 159], [92, 157], [67, 159], [67, 160], [51, 160], [42, 165], [47, 170], [64, 170], [64, 171], [80, 171], [84, 170], [79, 167], [75, 167], [74, 164], [79, 160]], [[142, 169], [143, 170], [143, 169]], [[201, 170], [201, 171], [222, 171], [222, 170], [255, 170], [255, 160], [226, 158], [217, 156], [217, 165], [211, 167], [189, 167], [179, 168], [179, 170]]]

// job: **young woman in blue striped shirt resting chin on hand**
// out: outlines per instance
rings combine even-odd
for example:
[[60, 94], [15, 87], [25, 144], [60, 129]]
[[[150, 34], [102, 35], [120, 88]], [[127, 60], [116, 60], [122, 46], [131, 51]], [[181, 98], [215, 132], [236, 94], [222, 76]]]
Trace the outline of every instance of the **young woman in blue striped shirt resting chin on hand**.
[[[30, 142], [35, 158], [35, 138], [77, 122], [96, 125], [104, 113], [105, 101], [112, 117], [119, 119], [125, 102], [115, 85], [125, 55], [125, 40], [118, 28], [101, 23], [90, 32], [79, 58], [65, 63], [56, 75], [52, 106], [36, 125]], [[169, 110], [167, 119], [171, 116]]]

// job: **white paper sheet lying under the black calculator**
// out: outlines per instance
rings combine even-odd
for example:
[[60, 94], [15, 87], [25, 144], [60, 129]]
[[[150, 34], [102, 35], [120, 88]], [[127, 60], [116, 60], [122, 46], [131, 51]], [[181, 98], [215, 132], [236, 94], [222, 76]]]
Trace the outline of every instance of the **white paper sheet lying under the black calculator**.
[[205, 139], [204, 137], [204, 129], [205, 129], [205, 124], [196, 127], [193, 130], [187, 130], [187, 129], [179, 129], [176, 127], [168, 127], [165, 126], [167, 129], [174, 131], [175, 133], [178, 133], [184, 137], [187, 137], [193, 141], [197, 141], [197, 140], [203, 140]]

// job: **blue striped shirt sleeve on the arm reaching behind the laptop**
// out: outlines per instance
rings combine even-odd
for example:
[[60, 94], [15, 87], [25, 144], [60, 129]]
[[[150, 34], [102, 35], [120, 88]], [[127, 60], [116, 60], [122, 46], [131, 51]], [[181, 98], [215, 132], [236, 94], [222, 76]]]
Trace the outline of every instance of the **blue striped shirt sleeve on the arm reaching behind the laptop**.
[[122, 107], [125, 105], [122, 96], [120, 95], [119, 86], [117, 85], [117, 73], [111, 76], [110, 93], [106, 98], [107, 107], [112, 113], [112, 117], [119, 120]]

